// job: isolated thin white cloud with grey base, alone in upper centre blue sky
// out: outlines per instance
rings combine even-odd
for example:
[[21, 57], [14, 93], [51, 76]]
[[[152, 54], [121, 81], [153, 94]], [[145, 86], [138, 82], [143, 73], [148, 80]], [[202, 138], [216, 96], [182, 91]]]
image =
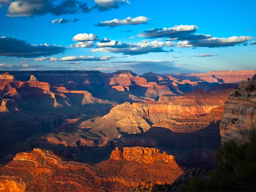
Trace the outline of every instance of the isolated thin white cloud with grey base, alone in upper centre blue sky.
[[150, 18], [147, 18], [147, 17], [144, 17], [144, 16], [138, 16], [136, 18], [128, 17], [128, 18], [123, 19], [123, 20], [113, 19], [113, 20], [110, 20], [110, 21], [102, 21], [102, 22], [99, 22], [98, 24], [95, 24], [94, 26], [115, 27], [115, 26], [118, 26], [118, 25], [138, 25], [138, 24], [145, 24], [149, 20], [150, 20]]

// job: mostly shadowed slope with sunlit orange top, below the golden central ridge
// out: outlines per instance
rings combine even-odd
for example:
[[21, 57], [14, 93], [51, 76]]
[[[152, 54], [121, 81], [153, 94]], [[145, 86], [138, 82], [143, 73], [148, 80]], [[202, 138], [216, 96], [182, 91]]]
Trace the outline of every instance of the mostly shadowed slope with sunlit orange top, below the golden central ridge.
[[220, 121], [224, 107], [205, 116], [164, 119], [140, 134], [123, 135], [116, 147], [155, 147], [173, 154], [184, 166], [214, 166], [214, 150], [220, 144]]

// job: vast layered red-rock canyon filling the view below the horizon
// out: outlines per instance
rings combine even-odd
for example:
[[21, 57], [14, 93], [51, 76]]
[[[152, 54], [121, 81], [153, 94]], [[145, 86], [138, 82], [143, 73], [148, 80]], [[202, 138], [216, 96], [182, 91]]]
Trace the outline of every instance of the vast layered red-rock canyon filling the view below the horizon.
[[255, 128], [255, 74], [2, 72], [0, 189], [127, 191], [214, 167]]

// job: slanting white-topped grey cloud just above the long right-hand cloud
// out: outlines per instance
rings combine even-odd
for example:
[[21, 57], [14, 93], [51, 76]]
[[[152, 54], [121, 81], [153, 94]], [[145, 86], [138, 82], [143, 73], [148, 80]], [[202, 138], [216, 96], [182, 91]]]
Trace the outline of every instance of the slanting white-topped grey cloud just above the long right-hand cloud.
[[170, 28], [153, 28], [147, 31], [140, 32], [137, 36], [138, 37], [146, 37], [146, 38], [161, 38], [161, 37], [168, 37], [168, 38], [178, 38], [187, 34], [191, 34], [196, 32], [199, 29], [196, 25], [176, 25]]

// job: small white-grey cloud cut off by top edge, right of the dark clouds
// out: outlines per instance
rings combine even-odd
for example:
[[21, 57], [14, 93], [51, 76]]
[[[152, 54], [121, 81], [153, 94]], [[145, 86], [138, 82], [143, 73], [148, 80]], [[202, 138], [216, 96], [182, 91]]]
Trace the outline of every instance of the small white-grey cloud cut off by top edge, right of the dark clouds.
[[112, 8], [117, 9], [122, 5], [129, 4], [130, 2], [127, 0], [94, 0], [96, 3], [96, 6], [94, 6], [94, 9], [97, 9], [98, 11], [108, 11]]

